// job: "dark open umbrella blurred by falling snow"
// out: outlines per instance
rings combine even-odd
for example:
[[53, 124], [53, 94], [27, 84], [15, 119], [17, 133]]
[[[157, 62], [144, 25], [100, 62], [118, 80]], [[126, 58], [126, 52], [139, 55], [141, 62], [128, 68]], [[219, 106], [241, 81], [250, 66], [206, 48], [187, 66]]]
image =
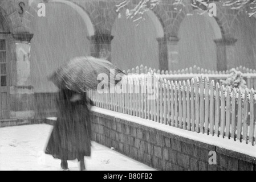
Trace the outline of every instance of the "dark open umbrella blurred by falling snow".
[[[110, 86], [115, 86], [124, 75], [109, 61], [89, 56], [71, 59], [48, 78], [60, 89], [87, 92], [96, 90], [100, 82], [103, 82], [104, 86], [109, 89]], [[99, 80], [97, 80], [98, 76]], [[107, 79], [106, 77], [101, 79], [102, 76], [107, 76]], [[116, 77], [118, 78], [116, 79]], [[111, 79], [115, 81], [111, 81]]]

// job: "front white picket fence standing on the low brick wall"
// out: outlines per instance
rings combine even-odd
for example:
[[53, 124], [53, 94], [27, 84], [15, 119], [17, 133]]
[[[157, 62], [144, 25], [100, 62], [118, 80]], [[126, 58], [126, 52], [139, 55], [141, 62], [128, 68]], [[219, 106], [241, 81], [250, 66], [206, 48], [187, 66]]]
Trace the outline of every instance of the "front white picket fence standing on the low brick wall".
[[[145, 76], [146, 80], [149, 77]], [[256, 95], [225, 89], [209, 78], [170, 81], [163, 78], [147, 82], [143, 77], [124, 77], [121, 93], [90, 91], [97, 107], [150, 119], [217, 137], [255, 145]], [[156, 99], [149, 100], [154, 91]]]

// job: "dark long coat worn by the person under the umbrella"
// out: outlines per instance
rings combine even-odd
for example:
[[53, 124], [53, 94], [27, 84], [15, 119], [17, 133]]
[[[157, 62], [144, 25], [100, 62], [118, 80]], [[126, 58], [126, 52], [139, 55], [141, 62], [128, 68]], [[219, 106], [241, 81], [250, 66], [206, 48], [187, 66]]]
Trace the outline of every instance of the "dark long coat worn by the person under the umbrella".
[[80, 160], [91, 155], [91, 102], [86, 94], [82, 101], [70, 102], [71, 95], [63, 99], [63, 93], [59, 94], [58, 119], [45, 152], [62, 160]]

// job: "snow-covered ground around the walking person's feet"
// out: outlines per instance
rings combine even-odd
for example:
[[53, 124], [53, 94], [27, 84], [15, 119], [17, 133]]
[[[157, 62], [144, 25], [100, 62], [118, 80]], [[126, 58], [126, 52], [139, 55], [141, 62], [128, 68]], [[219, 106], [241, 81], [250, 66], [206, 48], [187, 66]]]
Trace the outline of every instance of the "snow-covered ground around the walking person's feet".
[[[60, 160], [43, 152], [51, 130], [50, 125], [0, 128], [0, 170], [59, 171]], [[76, 160], [69, 161], [68, 167], [71, 171], [79, 170]], [[92, 142], [91, 158], [86, 158], [86, 168], [90, 171], [154, 170], [95, 142]]]

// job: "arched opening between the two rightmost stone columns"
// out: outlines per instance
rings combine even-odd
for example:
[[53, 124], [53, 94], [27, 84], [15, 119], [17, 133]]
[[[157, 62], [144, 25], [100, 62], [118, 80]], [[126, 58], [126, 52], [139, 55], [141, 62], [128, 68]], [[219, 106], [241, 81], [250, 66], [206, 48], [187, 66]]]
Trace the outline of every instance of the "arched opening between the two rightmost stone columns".
[[186, 16], [178, 31], [178, 69], [198, 67], [216, 70], [217, 49], [215, 39], [221, 39], [221, 29], [208, 13], [194, 12]]

